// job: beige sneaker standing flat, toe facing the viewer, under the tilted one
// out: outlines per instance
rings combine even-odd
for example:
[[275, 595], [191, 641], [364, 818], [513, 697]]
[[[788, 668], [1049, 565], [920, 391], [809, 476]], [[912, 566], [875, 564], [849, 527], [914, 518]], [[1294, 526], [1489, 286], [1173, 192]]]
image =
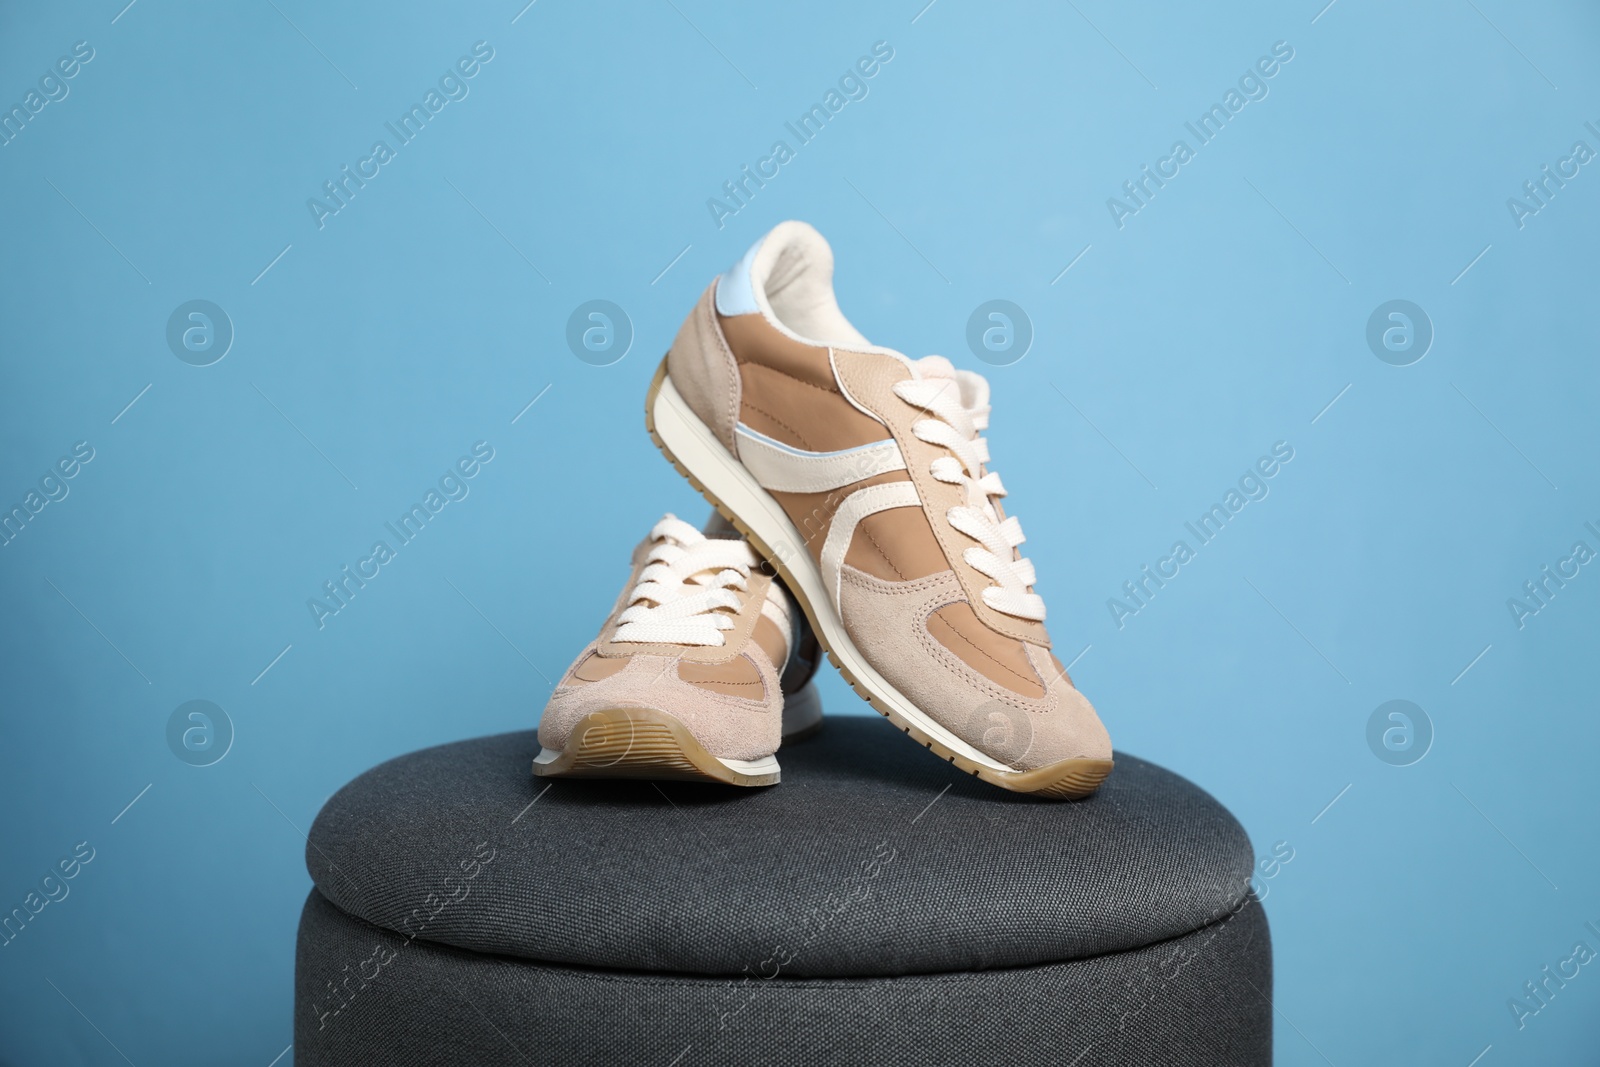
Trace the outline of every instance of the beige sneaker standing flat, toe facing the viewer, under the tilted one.
[[656, 523], [544, 707], [533, 773], [776, 784], [779, 742], [821, 725], [819, 656], [760, 563], [720, 518]]

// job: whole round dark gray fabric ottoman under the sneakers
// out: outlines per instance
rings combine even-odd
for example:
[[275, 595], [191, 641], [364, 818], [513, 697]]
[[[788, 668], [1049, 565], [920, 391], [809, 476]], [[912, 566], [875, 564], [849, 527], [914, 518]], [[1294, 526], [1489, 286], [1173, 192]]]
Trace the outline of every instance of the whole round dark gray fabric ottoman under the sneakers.
[[1043, 801], [877, 718], [758, 790], [549, 784], [538, 749], [427, 749], [323, 808], [299, 1067], [1270, 1062], [1250, 841], [1158, 766]]

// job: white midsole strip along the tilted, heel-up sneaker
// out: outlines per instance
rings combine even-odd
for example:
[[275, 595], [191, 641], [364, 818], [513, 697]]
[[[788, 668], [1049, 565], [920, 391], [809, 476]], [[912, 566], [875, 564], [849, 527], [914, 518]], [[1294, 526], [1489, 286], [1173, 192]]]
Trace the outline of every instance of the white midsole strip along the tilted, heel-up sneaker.
[[827, 593], [827, 584], [822, 581], [822, 571], [806, 550], [805, 537], [795, 530], [795, 525], [789, 520], [789, 514], [744, 469], [744, 464], [728, 453], [723, 443], [717, 440], [717, 435], [699, 421], [699, 416], [694, 414], [672, 386], [670, 376], [661, 379], [661, 390], [656, 394], [651, 418], [656, 424], [656, 434], [666, 442], [678, 462], [688, 467], [712, 496], [722, 501], [728, 510], [738, 515], [766, 544], [776, 561], [800, 585], [795, 592], [811, 605], [822, 643], [854, 675], [856, 681], [950, 752], [994, 771], [1016, 771], [1016, 768], [984, 755], [928, 718], [862, 657], [856, 649], [856, 643], [845, 632], [845, 624], [840, 621], [838, 611]]

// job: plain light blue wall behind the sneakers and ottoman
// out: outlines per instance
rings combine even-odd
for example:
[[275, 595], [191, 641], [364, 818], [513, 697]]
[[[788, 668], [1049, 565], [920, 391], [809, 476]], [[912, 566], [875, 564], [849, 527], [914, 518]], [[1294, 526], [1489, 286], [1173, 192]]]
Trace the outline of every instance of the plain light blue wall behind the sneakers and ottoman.
[[[531, 726], [627, 549], [704, 514], [645, 387], [786, 218], [882, 344], [984, 370], [968, 314], [1032, 317], [989, 374], [997, 469], [1117, 745], [1293, 848], [1278, 1062], [1592, 1061], [1600, 969], [1522, 1030], [1507, 1000], [1600, 949], [1600, 568], [1525, 629], [1506, 601], [1600, 549], [1600, 166], [1525, 229], [1506, 200], [1600, 149], [1600, 13], [923, 2], [6, 5], [0, 101], [96, 56], [0, 147], [0, 501], [96, 458], [0, 549], [0, 905], [96, 857], [0, 949], [0, 1061], [285, 1049], [299, 830], [379, 760]], [[307, 197], [478, 40], [470, 94], [318, 230]], [[878, 40], [870, 94], [717, 229], [706, 200]], [[1269, 98], [1117, 229], [1107, 197], [1278, 40]], [[237, 331], [206, 368], [165, 341], [197, 298]], [[605, 368], [565, 342], [597, 298], [635, 328]], [[1405, 368], [1365, 342], [1395, 298], [1437, 330]], [[318, 630], [306, 600], [478, 440], [470, 496]], [[1118, 629], [1107, 598], [1280, 440], [1270, 496]], [[165, 741], [190, 699], [237, 728], [203, 769]], [[1413, 766], [1366, 745], [1389, 699], [1437, 731]]]

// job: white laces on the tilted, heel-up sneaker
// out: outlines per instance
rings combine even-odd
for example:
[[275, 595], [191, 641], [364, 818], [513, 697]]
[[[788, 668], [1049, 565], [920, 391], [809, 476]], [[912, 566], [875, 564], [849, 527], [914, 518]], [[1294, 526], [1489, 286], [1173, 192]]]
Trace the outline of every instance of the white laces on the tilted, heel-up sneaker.
[[917, 378], [896, 382], [894, 395], [933, 416], [914, 422], [912, 434], [952, 453], [934, 459], [930, 472], [965, 491], [966, 504], [947, 510], [946, 518], [978, 542], [962, 558], [995, 582], [984, 589], [984, 603], [1019, 619], [1043, 622], [1045, 598], [1029, 592], [1035, 581], [1034, 565], [1016, 553], [1024, 541], [1022, 525], [1014, 515], [1000, 518], [994, 502], [1005, 496], [1005, 486], [998, 474], [984, 472], [989, 442], [979, 434], [989, 429], [989, 382], [982, 374], [957, 371], [942, 355], [923, 357], [914, 366]]

